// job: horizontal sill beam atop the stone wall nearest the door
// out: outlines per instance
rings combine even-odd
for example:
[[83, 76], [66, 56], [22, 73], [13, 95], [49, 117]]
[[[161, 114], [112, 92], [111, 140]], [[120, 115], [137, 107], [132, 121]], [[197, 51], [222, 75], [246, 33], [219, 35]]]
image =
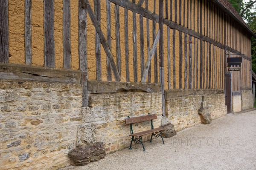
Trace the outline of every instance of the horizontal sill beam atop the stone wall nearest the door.
[[224, 94], [222, 89], [172, 89], [165, 90], [165, 98], [182, 97], [186, 95], [213, 95]]

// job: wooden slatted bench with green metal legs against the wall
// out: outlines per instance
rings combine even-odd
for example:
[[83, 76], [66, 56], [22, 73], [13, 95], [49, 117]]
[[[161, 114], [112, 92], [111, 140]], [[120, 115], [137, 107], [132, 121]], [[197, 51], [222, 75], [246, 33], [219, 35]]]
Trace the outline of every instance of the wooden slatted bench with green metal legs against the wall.
[[[135, 144], [141, 143], [142, 146], [143, 146], [143, 151], [145, 151], [145, 147], [144, 147], [143, 142], [142, 142], [142, 136], [143, 135], [151, 134], [150, 142], [152, 142], [153, 135], [156, 138], [158, 138], [160, 136], [162, 138], [162, 141], [163, 141], [163, 137], [161, 135], [161, 130], [167, 129], [165, 127], [157, 127], [157, 128], [154, 129], [153, 119], [157, 119], [157, 115], [156, 114], [151, 115], [150, 113], [148, 113], [148, 115], [145, 115], [145, 116], [138, 116], [138, 117], [134, 117], [134, 118], [130, 118], [128, 116], [128, 118], [125, 118], [125, 124], [130, 124], [131, 144], [132, 144], [133, 141], [134, 141]], [[142, 132], [134, 133], [133, 129], [132, 129], [132, 124], [140, 123], [140, 122], [143, 122], [143, 121], [151, 121], [151, 130], [145, 130], [145, 131], [142, 131]], [[130, 144], [130, 148], [129, 148], [130, 150], [132, 149], [131, 144]], [[164, 144], [164, 141], [163, 141], [163, 144]]]

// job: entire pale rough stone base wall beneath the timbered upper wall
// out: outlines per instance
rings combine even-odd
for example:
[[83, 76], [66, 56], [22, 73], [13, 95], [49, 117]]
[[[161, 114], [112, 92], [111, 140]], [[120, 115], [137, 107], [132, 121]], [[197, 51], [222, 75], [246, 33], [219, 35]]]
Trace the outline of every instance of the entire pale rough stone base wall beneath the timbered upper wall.
[[[227, 113], [223, 93], [210, 93], [204, 99], [212, 119]], [[0, 169], [58, 169], [70, 165], [70, 150], [98, 142], [104, 144], [100, 158], [103, 152], [129, 146], [127, 116], [157, 114], [155, 127], [171, 123], [179, 131], [200, 124], [201, 102], [201, 94], [169, 96], [163, 118], [161, 92], [90, 94], [89, 107], [82, 107], [80, 84], [2, 80]], [[170, 132], [175, 134], [173, 125]], [[135, 132], [148, 129], [150, 122], [134, 124]], [[143, 137], [149, 139], [150, 135]], [[92, 160], [96, 159], [82, 161]]]

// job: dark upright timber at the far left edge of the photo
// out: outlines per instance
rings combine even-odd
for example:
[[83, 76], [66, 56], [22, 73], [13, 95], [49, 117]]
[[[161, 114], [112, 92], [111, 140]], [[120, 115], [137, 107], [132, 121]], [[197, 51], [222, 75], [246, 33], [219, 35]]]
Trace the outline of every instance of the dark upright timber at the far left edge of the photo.
[[0, 63], [9, 61], [8, 0], [0, 1]]

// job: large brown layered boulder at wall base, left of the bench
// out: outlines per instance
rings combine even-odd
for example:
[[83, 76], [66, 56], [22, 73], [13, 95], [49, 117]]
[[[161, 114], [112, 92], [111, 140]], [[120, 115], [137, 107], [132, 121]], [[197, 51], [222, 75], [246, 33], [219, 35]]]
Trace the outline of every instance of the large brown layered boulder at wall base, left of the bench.
[[79, 146], [68, 153], [71, 165], [86, 165], [106, 156], [104, 144], [97, 142], [88, 146]]

